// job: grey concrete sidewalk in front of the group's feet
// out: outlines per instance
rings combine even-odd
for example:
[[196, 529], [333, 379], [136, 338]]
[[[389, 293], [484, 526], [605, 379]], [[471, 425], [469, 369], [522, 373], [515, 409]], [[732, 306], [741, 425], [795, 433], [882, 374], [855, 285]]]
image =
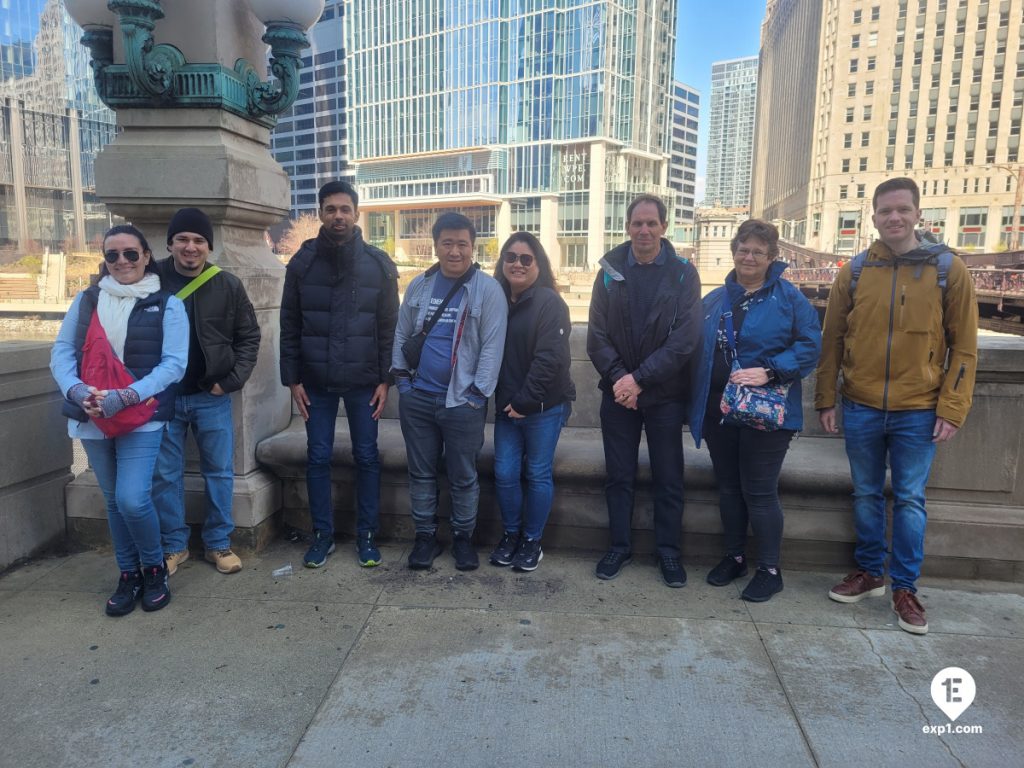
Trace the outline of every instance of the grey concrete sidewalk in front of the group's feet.
[[[1021, 765], [1022, 586], [924, 582], [931, 633], [887, 599], [829, 601], [784, 571], [770, 602], [665, 587], [638, 559], [549, 551], [529, 574], [360, 569], [280, 542], [224, 577], [191, 560], [157, 613], [103, 615], [109, 552], [0, 578], [0, 766]], [[481, 548], [481, 559], [486, 551]], [[294, 573], [273, 578], [291, 563]], [[932, 678], [977, 682], [954, 726]]]

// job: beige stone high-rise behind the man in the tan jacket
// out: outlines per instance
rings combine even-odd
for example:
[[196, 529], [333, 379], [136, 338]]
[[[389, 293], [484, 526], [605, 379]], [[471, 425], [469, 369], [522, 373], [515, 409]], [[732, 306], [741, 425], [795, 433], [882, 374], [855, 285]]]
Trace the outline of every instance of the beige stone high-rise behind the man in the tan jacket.
[[762, 27], [753, 213], [812, 248], [876, 237], [871, 193], [910, 176], [925, 227], [1014, 245], [1024, 0], [774, 0]]

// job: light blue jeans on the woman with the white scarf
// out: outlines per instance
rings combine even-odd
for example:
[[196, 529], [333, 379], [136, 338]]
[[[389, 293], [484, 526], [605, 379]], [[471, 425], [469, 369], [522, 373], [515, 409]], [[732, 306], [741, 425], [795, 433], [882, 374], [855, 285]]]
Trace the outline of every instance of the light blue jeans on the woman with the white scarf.
[[129, 432], [110, 440], [82, 440], [106, 500], [114, 557], [121, 570], [160, 565], [160, 520], [153, 507], [153, 468], [164, 430]]

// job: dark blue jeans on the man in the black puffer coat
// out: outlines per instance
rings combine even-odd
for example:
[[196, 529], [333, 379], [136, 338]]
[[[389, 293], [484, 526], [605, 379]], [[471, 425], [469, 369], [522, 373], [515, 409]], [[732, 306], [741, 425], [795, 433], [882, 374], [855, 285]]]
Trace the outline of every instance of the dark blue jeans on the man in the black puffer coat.
[[313, 530], [334, 534], [334, 505], [331, 502], [331, 455], [338, 404], [345, 402], [348, 434], [355, 462], [355, 532], [377, 532], [381, 503], [381, 460], [377, 452], [377, 422], [370, 399], [375, 387], [327, 392], [306, 387], [309, 421], [306, 422], [306, 493]]

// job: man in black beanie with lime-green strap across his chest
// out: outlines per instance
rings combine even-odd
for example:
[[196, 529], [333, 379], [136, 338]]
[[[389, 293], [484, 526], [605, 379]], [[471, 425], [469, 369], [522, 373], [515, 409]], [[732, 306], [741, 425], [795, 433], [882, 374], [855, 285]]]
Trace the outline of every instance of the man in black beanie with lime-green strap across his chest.
[[209, 263], [212, 249], [210, 217], [198, 208], [182, 208], [167, 227], [171, 256], [157, 262], [164, 290], [184, 302], [189, 334], [188, 366], [178, 384], [174, 419], [168, 422], [153, 480], [168, 574], [188, 559], [184, 445], [189, 428], [206, 486], [206, 559], [221, 573], [242, 570], [230, 543], [234, 425], [228, 395], [242, 389], [256, 366], [260, 330], [242, 281]]

